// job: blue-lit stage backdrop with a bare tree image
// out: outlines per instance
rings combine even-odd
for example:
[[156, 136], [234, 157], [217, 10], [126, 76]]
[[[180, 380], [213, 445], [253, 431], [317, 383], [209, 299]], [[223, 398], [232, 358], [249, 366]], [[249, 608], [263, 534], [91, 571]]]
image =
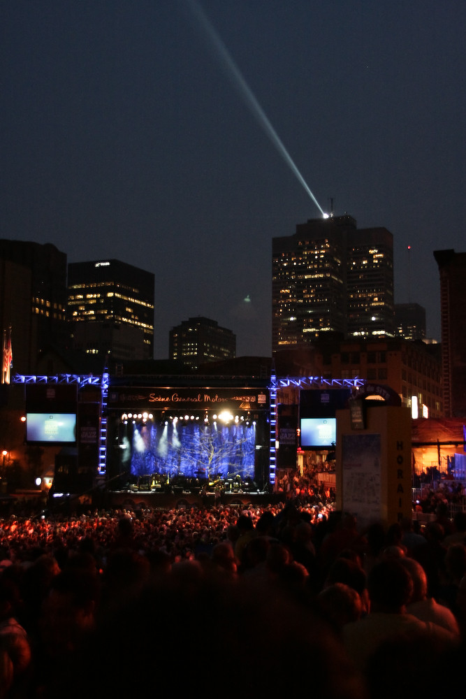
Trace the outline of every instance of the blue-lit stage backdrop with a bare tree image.
[[255, 426], [135, 424], [126, 440], [128, 447], [135, 476], [254, 477]]

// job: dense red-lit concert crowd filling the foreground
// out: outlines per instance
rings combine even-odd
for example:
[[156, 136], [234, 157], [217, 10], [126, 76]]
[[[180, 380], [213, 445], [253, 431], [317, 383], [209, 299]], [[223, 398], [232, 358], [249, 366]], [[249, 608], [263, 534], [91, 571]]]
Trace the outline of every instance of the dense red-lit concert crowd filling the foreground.
[[437, 696], [465, 641], [463, 513], [365, 531], [299, 500], [0, 521], [0, 699]]

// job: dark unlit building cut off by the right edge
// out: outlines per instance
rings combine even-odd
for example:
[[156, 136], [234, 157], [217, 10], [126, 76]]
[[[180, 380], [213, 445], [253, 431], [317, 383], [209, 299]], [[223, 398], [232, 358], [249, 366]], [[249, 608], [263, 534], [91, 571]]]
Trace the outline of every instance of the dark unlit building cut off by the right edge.
[[445, 417], [466, 417], [466, 252], [435, 250], [440, 275]]

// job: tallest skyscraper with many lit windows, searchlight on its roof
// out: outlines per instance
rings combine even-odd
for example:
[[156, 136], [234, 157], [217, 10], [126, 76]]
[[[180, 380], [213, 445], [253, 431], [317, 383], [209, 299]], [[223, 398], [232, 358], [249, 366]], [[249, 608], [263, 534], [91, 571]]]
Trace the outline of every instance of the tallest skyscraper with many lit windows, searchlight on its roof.
[[349, 215], [310, 219], [272, 240], [272, 349], [323, 332], [393, 335], [393, 236]]

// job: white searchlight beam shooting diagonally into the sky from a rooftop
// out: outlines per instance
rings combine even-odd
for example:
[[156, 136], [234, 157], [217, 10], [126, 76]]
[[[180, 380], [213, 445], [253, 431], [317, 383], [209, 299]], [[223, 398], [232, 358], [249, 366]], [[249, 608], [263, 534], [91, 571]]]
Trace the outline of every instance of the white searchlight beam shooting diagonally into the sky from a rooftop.
[[252, 114], [254, 115], [254, 117], [256, 117], [256, 120], [259, 122], [259, 124], [265, 131], [265, 134], [267, 134], [267, 136], [272, 141], [273, 145], [275, 145], [277, 151], [282, 156], [289, 168], [291, 168], [291, 171], [294, 173], [294, 175], [296, 175], [296, 178], [298, 178], [300, 184], [303, 185], [305, 191], [307, 192], [307, 194], [309, 194], [310, 198], [321, 212], [321, 215], [324, 218], [328, 218], [328, 214], [326, 214], [323, 211], [323, 208], [321, 208], [314, 194], [312, 194], [310, 188], [307, 185], [307, 182], [303, 178], [303, 175], [301, 175], [291, 155], [286, 150], [286, 147], [284, 146], [284, 143], [282, 142], [281, 138], [279, 138], [277, 131], [275, 131], [274, 127], [272, 127], [272, 124], [270, 123], [268, 116], [265, 114], [263, 108], [257, 101], [254, 92], [252, 92], [252, 89], [247, 84], [240, 69], [238, 69], [238, 66], [233, 61], [230, 52], [228, 52], [228, 49], [226, 48], [224, 42], [221, 41], [219, 34], [217, 34], [217, 31], [214, 29], [207, 15], [205, 15], [203, 9], [196, 2], [196, 0], [187, 0], [187, 4], [189, 5], [191, 12], [196, 17], [199, 24], [201, 24], [201, 26], [203, 27], [207, 36], [210, 38], [214, 50], [216, 51], [217, 55], [221, 59], [221, 62], [224, 64], [228, 71], [228, 75], [230, 75], [235, 87], [238, 88], [242, 98], [245, 100], [247, 106], [252, 111]]

